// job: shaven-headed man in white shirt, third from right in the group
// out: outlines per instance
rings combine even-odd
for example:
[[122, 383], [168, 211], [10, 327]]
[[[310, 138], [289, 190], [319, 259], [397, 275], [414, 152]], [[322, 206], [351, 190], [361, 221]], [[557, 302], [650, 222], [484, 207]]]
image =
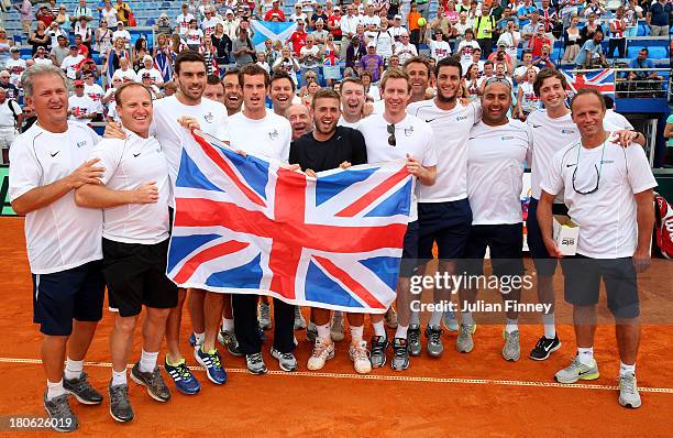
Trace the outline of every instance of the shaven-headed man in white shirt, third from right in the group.
[[[518, 311], [521, 295], [523, 225], [521, 215], [521, 186], [531, 138], [526, 124], [510, 120], [511, 85], [505, 78], [494, 77], [485, 83], [482, 96], [482, 121], [470, 133], [467, 144], [467, 199], [472, 209], [472, 228], [459, 263], [459, 273], [467, 278], [483, 275], [486, 248], [490, 251], [493, 274], [498, 281], [507, 322], [504, 330], [503, 357], [518, 361], [520, 357]], [[507, 281], [507, 283], [506, 283]], [[507, 286], [504, 286], [507, 285]], [[511, 285], [511, 287], [509, 287]], [[471, 306], [476, 300], [474, 284], [461, 288], [461, 330], [456, 341], [460, 352], [474, 348], [472, 333], [476, 325]]]

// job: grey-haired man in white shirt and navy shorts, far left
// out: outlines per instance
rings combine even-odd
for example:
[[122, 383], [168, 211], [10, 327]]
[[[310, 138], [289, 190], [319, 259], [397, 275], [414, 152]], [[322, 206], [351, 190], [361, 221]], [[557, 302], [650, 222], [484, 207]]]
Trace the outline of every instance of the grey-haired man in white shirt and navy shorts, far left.
[[37, 122], [10, 150], [9, 197], [14, 211], [25, 215], [33, 321], [43, 333], [41, 359], [47, 377], [44, 407], [54, 429], [71, 431], [78, 423], [67, 393], [84, 404], [102, 402], [82, 368], [102, 317], [104, 293], [102, 213], [78, 207], [73, 190], [98, 184], [104, 169], [98, 160], [87, 161], [98, 135], [68, 121], [63, 70], [36, 65], [23, 74], [22, 83]]

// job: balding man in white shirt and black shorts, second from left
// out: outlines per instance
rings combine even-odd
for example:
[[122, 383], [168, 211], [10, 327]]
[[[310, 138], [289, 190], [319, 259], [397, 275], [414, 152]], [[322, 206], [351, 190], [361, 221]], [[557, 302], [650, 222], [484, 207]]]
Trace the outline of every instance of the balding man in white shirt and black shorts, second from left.
[[81, 207], [103, 210], [103, 275], [110, 307], [117, 310], [110, 336], [110, 414], [125, 423], [134, 417], [126, 365], [143, 305], [143, 347], [131, 379], [146, 386], [152, 398], [170, 398], [156, 359], [168, 314], [177, 304], [177, 286], [166, 277], [172, 193], [166, 157], [150, 136], [152, 95], [143, 85], [129, 83], [117, 90], [114, 99], [129, 136], [104, 139], [91, 151], [89, 157], [100, 160], [106, 169], [102, 184], [79, 187], [75, 200]]

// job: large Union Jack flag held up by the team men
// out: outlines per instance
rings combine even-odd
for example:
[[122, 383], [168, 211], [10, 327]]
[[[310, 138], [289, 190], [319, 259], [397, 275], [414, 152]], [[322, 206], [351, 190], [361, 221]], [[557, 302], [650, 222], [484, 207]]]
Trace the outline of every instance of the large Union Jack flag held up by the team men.
[[404, 161], [311, 178], [195, 131], [175, 188], [167, 275], [181, 287], [384, 313], [413, 179]]

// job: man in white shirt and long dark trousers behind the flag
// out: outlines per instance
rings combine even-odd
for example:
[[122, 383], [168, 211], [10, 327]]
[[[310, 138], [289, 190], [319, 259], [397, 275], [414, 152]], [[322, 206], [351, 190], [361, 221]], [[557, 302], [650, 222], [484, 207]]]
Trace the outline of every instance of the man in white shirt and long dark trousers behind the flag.
[[[268, 73], [258, 65], [246, 65], [239, 72], [239, 83], [243, 91], [243, 110], [230, 119], [231, 147], [243, 154], [287, 163], [293, 130], [287, 119], [265, 107], [271, 85]], [[232, 307], [234, 331], [245, 354], [247, 370], [253, 374], [264, 374], [266, 365], [257, 329], [257, 296], [233, 294]], [[283, 371], [295, 371], [295, 306], [274, 298], [274, 322], [272, 355], [278, 359]]]

